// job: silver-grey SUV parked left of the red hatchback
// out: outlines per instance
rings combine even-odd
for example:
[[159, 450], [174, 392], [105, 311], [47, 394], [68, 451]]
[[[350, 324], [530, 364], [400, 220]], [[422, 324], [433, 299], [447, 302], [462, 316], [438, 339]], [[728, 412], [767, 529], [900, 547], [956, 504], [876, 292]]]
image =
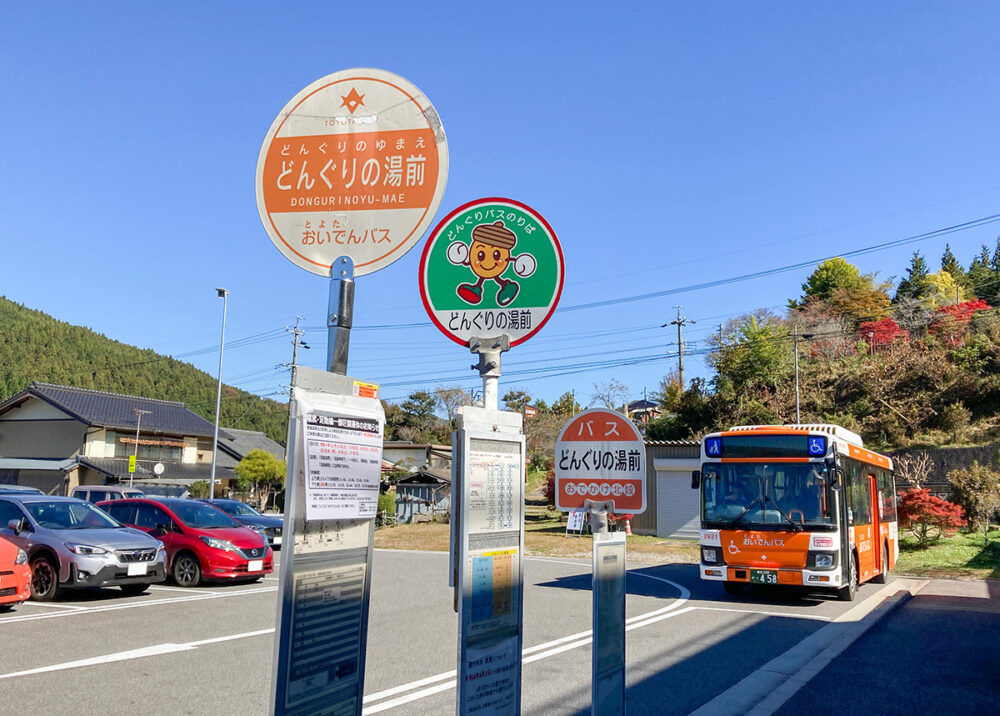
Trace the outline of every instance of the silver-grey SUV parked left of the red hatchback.
[[0, 535], [27, 552], [31, 598], [40, 602], [87, 587], [141, 594], [167, 578], [159, 540], [73, 497], [0, 495]]

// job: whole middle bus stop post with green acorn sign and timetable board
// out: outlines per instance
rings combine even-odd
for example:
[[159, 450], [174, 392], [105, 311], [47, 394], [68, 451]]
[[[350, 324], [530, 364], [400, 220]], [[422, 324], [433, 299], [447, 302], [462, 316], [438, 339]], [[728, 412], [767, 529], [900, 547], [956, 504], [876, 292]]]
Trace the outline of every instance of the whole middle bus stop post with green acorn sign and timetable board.
[[479, 356], [482, 407], [459, 411], [452, 437], [451, 573], [459, 614], [459, 714], [521, 712], [524, 434], [501, 411], [500, 356], [535, 335], [563, 285], [559, 240], [513, 199], [479, 199], [434, 228], [420, 296], [434, 324]]

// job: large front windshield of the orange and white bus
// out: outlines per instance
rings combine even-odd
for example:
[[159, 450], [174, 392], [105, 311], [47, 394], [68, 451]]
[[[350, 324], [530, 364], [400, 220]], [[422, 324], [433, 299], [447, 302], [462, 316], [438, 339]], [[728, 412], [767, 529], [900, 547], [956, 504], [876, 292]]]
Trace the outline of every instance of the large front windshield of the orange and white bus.
[[713, 526], [799, 530], [836, 524], [825, 465], [707, 463], [701, 475], [702, 518]]

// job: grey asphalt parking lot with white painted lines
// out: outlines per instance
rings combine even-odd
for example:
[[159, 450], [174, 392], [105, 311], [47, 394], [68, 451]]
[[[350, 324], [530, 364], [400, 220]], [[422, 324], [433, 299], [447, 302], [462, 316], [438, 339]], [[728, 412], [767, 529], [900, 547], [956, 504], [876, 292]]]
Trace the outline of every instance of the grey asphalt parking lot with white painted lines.
[[[443, 553], [376, 551], [366, 713], [454, 712], [447, 565]], [[525, 575], [523, 712], [589, 713], [590, 563], [529, 558]], [[24, 604], [0, 615], [4, 699], [49, 714], [266, 713], [277, 587], [270, 576]], [[853, 606], [791, 592], [729, 597], [690, 565], [630, 565], [627, 587], [630, 714], [712, 704]], [[877, 591], [865, 585], [859, 599]]]

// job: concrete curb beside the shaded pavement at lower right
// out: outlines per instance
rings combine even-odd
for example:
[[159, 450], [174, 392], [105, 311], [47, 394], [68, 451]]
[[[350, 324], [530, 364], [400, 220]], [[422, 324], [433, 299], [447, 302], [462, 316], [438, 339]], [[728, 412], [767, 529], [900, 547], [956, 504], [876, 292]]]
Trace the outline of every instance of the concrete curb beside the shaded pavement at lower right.
[[902, 607], [928, 580], [898, 578], [701, 706], [697, 716], [770, 716], [847, 647]]

